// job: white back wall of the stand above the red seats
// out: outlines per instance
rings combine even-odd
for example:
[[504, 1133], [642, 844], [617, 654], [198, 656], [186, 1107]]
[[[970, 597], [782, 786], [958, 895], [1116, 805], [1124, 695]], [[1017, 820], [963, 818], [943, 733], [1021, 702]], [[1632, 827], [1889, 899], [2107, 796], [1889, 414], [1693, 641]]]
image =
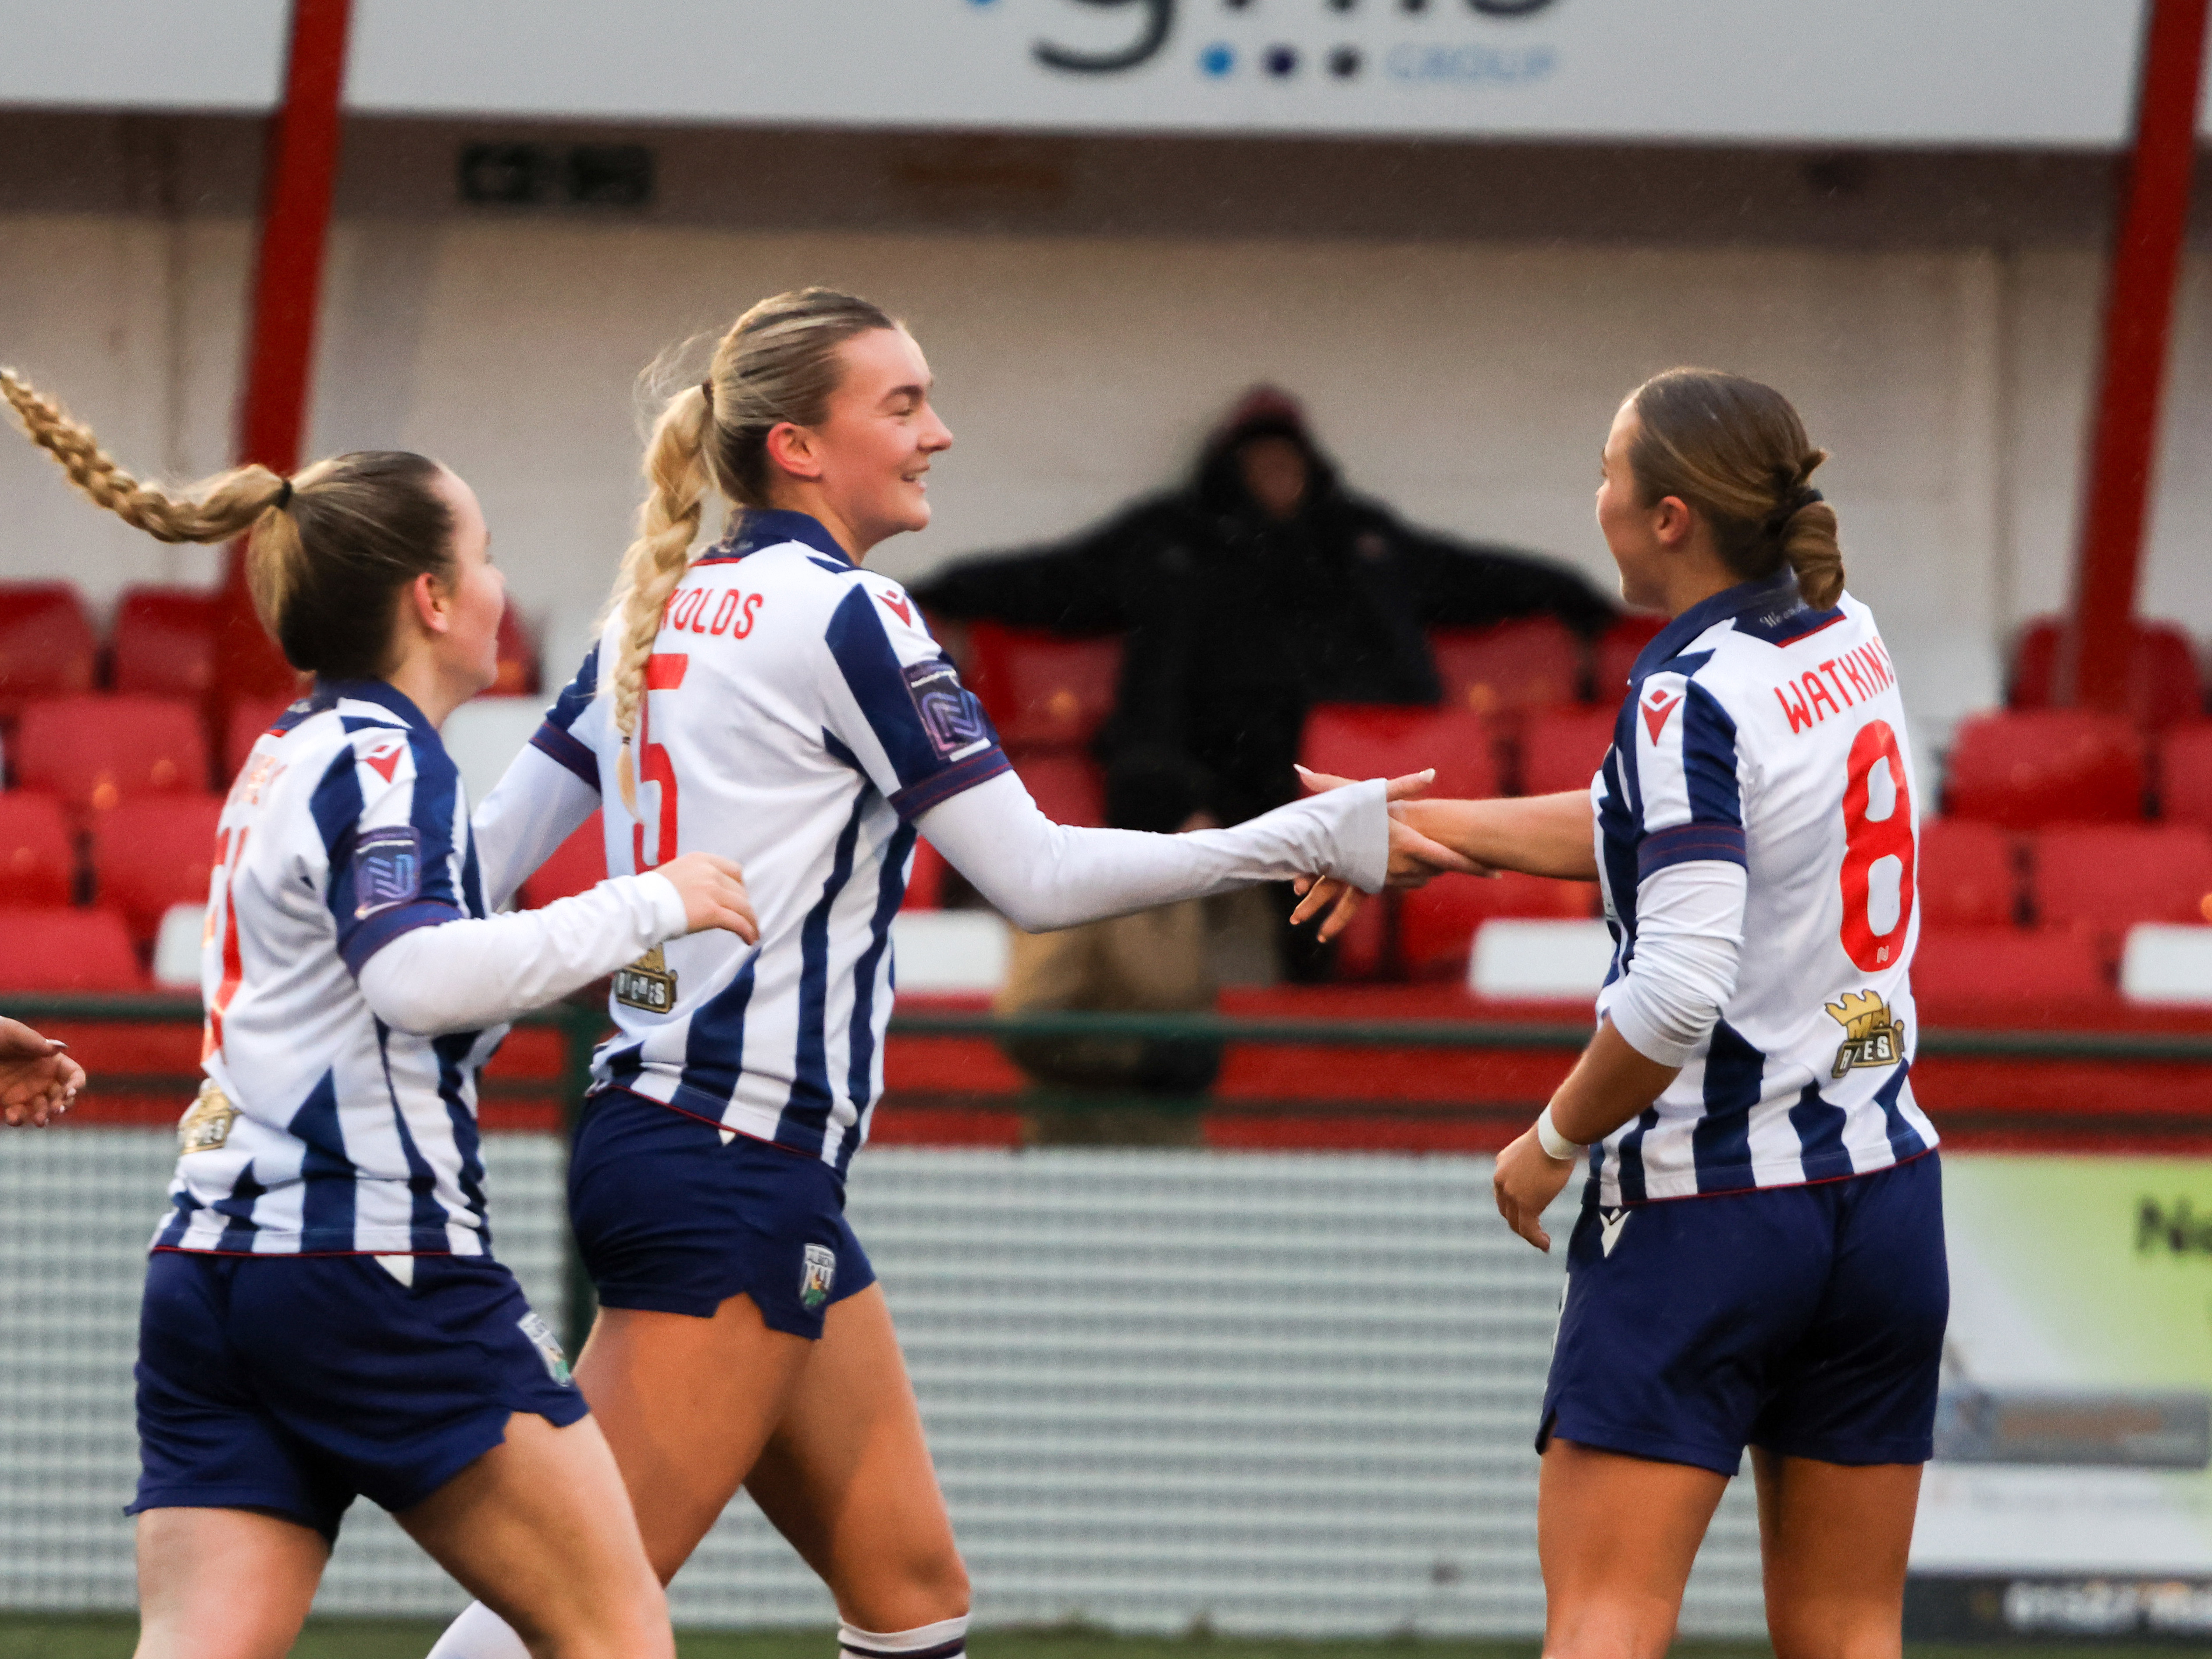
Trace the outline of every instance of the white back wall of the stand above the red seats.
[[[0, 219], [0, 356], [117, 456], [223, 460], [248, 228]], [[482, 493], [535, 615], [597, 604], [635, 502], [653, 354], [803, 281], [909, 316], [960, 442], [911, 575], [1075, 529], [1179, 476], [1256, 378], [1312, 407], [1358, 489], [1604, 573], [1588, 518], [1615, 400], [1670, 363], [1785, 387], [1818, 442], [1851, 586], [1933, 719], [1995, 699], [1997, 648], [2064, 599], [2097, 261], [2033, 252], [1617, 250], [1371, 241], [745, 234], [358, 219], [332, 250], [312, 449], [438, 453]], [[2212, 628], [2212, 261], [2188, 272], [2143, 608]], [[0, 573], [108, 599], [190, 580], [0, 445]]]

